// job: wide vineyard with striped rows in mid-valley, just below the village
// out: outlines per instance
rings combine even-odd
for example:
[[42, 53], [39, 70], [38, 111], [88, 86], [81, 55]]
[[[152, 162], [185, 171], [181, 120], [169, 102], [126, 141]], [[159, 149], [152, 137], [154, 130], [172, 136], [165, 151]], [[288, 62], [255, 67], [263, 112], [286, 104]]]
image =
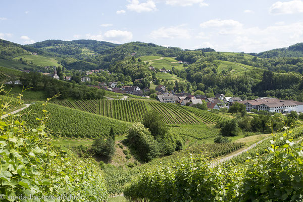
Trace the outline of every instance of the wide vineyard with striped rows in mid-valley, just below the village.
[[[56, 101], [53, 103], [126, 122], [136, 122], [142, 120], [147, 111], [151, 109], [156, 110], [159, 114], [162, 115], [164, 123], [173, 125], [201, 123], [214, 124], [220, 120], [226, 119], [225, 117], [214, 114], [212, 112], [199, 110], [192, 107], [182, 107], [176, 104], [160, 102], [147, 102], [140, 99], [65, 100], [60, 102]], [[208, 129], [205, 128], [204, 130]], [[184, 132], [185, 131], [181, 131], [181, 133]], [[196, 131], [193, 133], [196, 133]], [[194, 136], [198, 137], [197, 139], [204, 139], [204, 137], [209, 135], [207, 135], [206, 132], [200, 131], [198, 135]], [[213, 136], [211, 135], [211, 137]]]

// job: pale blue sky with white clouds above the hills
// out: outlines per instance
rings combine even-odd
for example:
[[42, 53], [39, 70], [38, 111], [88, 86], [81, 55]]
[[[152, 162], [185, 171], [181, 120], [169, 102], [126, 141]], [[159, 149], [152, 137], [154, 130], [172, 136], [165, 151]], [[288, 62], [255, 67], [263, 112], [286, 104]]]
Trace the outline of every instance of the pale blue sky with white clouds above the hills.
[[303, 42], [303, 0], [1, 0], [0, 38], [259, 53]]

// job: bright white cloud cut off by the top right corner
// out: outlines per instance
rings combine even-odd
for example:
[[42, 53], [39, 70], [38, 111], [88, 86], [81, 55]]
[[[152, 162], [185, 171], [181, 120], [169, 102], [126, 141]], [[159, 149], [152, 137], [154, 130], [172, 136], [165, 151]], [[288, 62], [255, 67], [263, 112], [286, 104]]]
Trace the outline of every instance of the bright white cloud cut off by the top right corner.
[[274, 15], [303, 13], [303, 1], [276, 2], [269, 8], [269, 13]]

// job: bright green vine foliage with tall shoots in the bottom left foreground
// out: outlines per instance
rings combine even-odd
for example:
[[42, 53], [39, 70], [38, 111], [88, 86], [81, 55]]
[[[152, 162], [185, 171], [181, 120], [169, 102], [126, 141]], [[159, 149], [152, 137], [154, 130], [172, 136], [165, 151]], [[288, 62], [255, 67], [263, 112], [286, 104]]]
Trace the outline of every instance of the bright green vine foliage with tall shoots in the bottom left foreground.
[[[21, 97], [19, 94], [19, 105]], [[51, 135], [45, 129], [49, 100], [42, 104], [43, 113], [36, 118], [36, 128], [19, 121], [24, 114], [0, 120], [0, 194], [5, 196], [2, 201], [21, 201], [20, 197], [22, 201], [107, 200], [103, 171], [92, 159], [79, 159], [51, 145]], [[1, 106], [1, 114], [6, 106], [9, 105]]]

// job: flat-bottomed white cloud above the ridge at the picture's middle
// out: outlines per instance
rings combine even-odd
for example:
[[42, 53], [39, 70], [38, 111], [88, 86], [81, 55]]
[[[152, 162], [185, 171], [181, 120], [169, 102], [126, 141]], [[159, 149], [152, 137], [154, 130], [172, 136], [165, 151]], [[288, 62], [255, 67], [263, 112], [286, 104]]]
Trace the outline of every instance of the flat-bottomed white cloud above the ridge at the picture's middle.
[[183, 25], [179, 25], [176, 27], [161, 27], [157, 30], [152, 31], [149, 34], [149, 37], [152, 39], [159, 39], [159, 38], [167, 38], [167, 39], [189, 39], [190, 33], [189, 30], [183, 28]]

